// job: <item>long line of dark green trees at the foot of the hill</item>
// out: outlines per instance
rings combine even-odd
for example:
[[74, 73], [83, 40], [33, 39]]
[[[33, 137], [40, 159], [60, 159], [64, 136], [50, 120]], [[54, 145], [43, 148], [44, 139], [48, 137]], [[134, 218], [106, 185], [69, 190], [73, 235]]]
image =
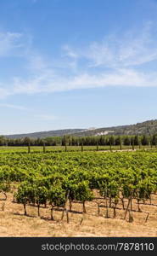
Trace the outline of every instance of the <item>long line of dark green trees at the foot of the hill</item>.
[[8, 138], [0, 137], [0, 146], [157, 146], [157, 134], [153, 136], [91, 136], [91, 137], [46, 137]]

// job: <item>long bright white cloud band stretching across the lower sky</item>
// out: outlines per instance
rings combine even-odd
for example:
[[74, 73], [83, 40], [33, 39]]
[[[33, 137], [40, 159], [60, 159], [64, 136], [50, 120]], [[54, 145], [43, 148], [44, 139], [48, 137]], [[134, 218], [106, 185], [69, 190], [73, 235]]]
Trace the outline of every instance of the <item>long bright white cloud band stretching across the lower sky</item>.
[[70, 78], [41, 76], [29, 81], [17, 80], [13, 94], [36, 94], [104, 86], [157, 86], [157, 73], [119, 69], [101, 74], [82, 73]]

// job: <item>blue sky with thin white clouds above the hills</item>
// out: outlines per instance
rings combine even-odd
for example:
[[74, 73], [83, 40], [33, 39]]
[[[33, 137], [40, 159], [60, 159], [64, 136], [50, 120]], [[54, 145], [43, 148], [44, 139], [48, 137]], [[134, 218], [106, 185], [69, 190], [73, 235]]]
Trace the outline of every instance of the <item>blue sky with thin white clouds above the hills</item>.
[[1, 0], [0, 134], [157, 119], [157, 0]]

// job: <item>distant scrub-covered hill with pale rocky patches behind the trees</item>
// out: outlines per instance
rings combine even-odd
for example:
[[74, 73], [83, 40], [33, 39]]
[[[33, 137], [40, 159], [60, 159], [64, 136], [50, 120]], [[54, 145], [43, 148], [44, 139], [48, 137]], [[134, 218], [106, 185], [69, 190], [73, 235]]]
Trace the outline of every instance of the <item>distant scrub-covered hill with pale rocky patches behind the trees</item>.
[[157, 134], [157, 119], [148, 120], [136, 125], [121, 125], [104, 128], [89, 129], [64, 129], [56, 131], [41, 131], [27, 134], [8, 135], [9, 138], [20, 137], [61, 137], [64, 135], [72, 135], [76, 137], [98, 136], [98, 135], [154, 135]]

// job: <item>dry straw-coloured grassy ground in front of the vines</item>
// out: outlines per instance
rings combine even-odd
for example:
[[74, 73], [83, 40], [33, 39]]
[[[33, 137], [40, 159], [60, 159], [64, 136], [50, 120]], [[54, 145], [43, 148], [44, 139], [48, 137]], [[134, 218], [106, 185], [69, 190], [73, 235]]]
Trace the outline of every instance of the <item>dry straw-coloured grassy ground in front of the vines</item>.
[[[98, 207], [95, 202], [87, 202], [87, 214], [81, 213], [82, 206], [73, 204], [73, 212], [69, 213], [70, 224], [66, 218], [60, 221], [61, 211], [54, 212], [55, 221], [50, 220], [49, 207], [41, 208], [41, 218], [37, 217], [36, 207], [28, 206], [24, 216], [22, 205], [13, 202], [13, 195], [8, 194], [2, 211], [4, 201], [0, 201], [0, 236], [157, 236], [157, 207], [141, 205], [143, 212], [133, 212], [134, 221], [129, 223], [122, 219], [124, 211], [121, 204], [118, 205], [116, 218], [113, 218], [113, 209], [109, 209], [109, 217], [104, 218], [106, 209]], [[154, 196], [154, 203], [157, 198]], [[133, 209], [137, 211], [137, 204], [133, 203]], [[77, 213], [76, 213], [76, 212]], [[148, 222], [145, 223], [146, 213], [149, 212]], [[82, 222], [81, 222], [82, 220]], [[81, 223], [81, 224], [80, 224]]]

